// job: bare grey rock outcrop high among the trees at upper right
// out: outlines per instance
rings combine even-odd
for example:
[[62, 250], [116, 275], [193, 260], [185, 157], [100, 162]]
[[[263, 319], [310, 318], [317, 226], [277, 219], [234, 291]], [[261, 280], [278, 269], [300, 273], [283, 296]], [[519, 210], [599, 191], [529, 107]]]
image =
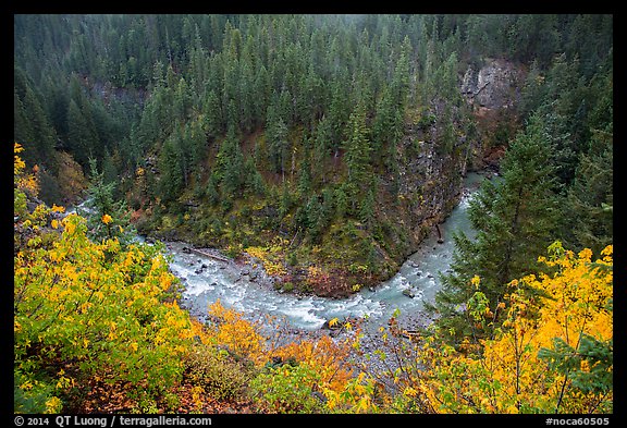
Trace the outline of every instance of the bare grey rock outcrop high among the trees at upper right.
[[518, 66], [503, 59], [490, 59], [479, 70], [468, 68], [462, 93], [476, 106], [508, 109], [518, 102], [522, 82], [522, 71]]

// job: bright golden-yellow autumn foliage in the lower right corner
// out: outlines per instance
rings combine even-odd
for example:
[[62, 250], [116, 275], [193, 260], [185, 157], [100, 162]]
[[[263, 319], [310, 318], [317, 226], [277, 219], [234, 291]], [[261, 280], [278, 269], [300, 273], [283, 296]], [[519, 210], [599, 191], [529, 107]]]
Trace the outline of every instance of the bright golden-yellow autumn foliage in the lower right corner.
[[[428, 413], [612, 413], [612, 246], [601, 258], [557, 242], [540, 257], [546, 273], [507, 284], [496, 307], [477, 292], [470, 311], [481, 323], [505, 320], [489, 340], [457, 347], [438, 332], [417, 346], [418, 363], [396, 380], [402, 408]], [[480, 281], [479, 278], [474, 279]], [[481, 306], [480, 310], [478, 307]]]

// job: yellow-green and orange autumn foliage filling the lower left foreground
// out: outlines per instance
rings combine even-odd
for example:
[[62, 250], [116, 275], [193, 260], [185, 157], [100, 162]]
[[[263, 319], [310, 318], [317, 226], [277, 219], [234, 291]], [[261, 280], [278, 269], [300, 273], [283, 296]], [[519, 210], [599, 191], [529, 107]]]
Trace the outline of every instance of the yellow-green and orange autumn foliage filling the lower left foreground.
[[[37, 183], [20, 150], [15, 145], [15, 412], [282, 412], [276, 403], [292, 395], [285, 386], [304, 372], [306, 393], [292, 408], [322, 412], [310, 393], [343, 390], [352, 342], [270, 340], [220, 302], [209, 308], [212, 322], [193, 320], [176, 303], [179, 280], [162, 246], [93, 241], [81, 216], [44, 204], [28, 210]], [[276, 358], [291, 365], [275, 371], [269, 364]], [[271, 382], [261, 381], [268, 376]], [[281, 384], [285, 396], [276, 399]], [[310, 399], [315, 405], [304, 406]]]

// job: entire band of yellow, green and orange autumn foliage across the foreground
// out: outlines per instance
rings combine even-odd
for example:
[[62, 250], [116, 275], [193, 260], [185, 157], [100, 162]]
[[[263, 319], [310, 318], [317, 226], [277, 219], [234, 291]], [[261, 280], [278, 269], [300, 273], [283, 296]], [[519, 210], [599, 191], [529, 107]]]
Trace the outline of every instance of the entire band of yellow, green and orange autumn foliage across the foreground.
[[465, 310], [488, 339], [451, 345], [392, 319], [383, 343], [397, 368], [382, 388], [352, 363], [351, 322], [329, 322], [337, 338], [286, 340], [276, 320], [219, 301], [205, 325], [192, 319], [161, 245], [95, 241], [63, 207], [28, 208], [37, 182], [14, 151], [16, 413], [613, 411], [612, 246], [593, 260], [556, 242], [544, 273], [505, 284], [494, 307], [474, 277]]

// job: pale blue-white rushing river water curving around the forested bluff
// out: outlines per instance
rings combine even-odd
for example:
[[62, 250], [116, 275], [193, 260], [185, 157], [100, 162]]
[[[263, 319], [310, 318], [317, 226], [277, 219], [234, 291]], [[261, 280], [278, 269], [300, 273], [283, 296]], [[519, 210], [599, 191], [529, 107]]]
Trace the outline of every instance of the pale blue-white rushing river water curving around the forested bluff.
[[[281, 293], [260, 281], [258, 272], [248, 268], [190, 252], [185, 243], [168, 243], [172, 256], [170, 268], [185, 284], [182, 306], [202, 318], [207, 315], [208, 305], [220, 299], [224, 306], [245, 315], [278, 316], [304, 330], [320, 329], [332, 318], [365, 318], [366, 327], [377, 328], [386, 323], [396, 309], [399, 311], [398, 322], [405, 323], [404, 328], [426, 325], [429, 320], [425, 319], [423, 304], [433, 301], [441, 283], [440, 273], [450, 269], [455, 247], [454, 232], [472, 235], [467, 210], [484, 176], [477, 173], [465, 178], [459, 204], [440, 224], [443, 243], [438, 242], [434, 230], [393, 278], [346, 298]], [[404, 294], [407, 289], [413, 297]]]

